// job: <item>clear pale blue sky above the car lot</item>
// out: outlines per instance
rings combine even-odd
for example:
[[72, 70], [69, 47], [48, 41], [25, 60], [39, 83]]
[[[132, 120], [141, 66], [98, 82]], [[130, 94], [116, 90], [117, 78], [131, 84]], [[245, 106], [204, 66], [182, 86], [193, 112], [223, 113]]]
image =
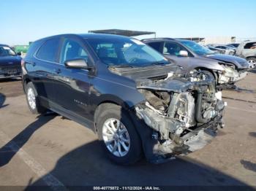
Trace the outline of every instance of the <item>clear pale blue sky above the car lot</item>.
[[0, 0], [0, 44], [112, 28], [250, 38], [256, 37], [255, 9], [255, 0]]

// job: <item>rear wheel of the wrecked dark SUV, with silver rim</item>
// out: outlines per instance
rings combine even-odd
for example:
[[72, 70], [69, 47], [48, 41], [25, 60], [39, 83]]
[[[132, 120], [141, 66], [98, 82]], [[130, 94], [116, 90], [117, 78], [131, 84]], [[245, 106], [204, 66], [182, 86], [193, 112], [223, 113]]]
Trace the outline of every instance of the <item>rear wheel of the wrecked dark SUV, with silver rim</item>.
[[45, 112], [47, 112], [47, 109], [41, 106], [39, 102], [39, 97], [37, 95], [37, 90], [32, 82], [26, 84], [25, 91], [26, 101], [32, 114], [44, 114]]

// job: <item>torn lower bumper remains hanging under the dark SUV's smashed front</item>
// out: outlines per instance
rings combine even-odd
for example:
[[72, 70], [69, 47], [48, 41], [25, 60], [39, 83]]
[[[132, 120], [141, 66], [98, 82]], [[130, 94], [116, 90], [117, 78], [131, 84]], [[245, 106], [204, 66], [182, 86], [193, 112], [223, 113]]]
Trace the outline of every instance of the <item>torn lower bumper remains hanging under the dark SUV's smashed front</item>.
[[[187, 155], [191, 152], [195, 152], [198, 149], [202, 149], [207, 144], [211, 143], [211, 140], [217, 136], [218, 128], [224, 127], [224, 123], [222, 122], [223, 112], [224, 109], [222, 109], [217, 117], [207, 122], [206, 124], [197, 126], [194, 130], [190, 130], [189, 133], [181, 136], [181, 139], [176, 134], [177, 137], [174, 136], [173, 140], [160, 140], [159, 131], [151, 128], [151, 136], [146, 138], [147, 140], [143, 140], [148, 144], [154, 140], [154, 144], [151, 146], [152, 153], [149, 152], [150, 157], [147, 157], [147, 155], [146, 157], [151, 163], [164, 163], [167, 160], [175, 159], [177, 155]], [[142, 122], [142, 120], [140, 120], [140, 122]], [[162, 124], [165, 124], [165, 122]], [[179, 127], [181, 127], [181, 124], [179, 125]], [[148, 127], [147, 124], [146, 126]], [[162, 127], [162, 132], [163, 130], [166, 130], [168, 134], [170, 133], [170, 127]]]

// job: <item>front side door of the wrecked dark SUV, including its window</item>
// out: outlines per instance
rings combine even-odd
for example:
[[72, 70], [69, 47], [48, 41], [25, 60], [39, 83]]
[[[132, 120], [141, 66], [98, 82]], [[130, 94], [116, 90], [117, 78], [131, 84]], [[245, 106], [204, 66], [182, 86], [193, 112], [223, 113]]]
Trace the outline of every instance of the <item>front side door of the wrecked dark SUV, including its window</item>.
[[65, 61], [83, 58], [89, 65], [89, 53], [86, 45], [75, 37], [63, 38], [59, 63], [56, 64], [56, 74], [53, 78], [53, 89], [56, 104], [61, 109], [69, 110], [81, 117], [88, 117], [86, 107], [89, 104], [90, 75], [86, 69], [67, 69]]

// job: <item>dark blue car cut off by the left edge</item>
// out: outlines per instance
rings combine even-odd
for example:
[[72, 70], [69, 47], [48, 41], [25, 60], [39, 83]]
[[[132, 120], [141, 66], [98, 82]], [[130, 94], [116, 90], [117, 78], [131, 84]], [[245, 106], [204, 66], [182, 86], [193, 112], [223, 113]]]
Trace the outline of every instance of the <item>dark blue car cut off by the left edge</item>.
[[11, 47], [0, 44], [0, 79], [21, 76], [20, 53], [16, 54]]

